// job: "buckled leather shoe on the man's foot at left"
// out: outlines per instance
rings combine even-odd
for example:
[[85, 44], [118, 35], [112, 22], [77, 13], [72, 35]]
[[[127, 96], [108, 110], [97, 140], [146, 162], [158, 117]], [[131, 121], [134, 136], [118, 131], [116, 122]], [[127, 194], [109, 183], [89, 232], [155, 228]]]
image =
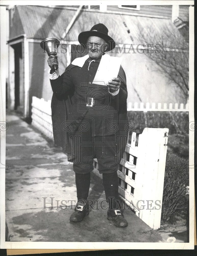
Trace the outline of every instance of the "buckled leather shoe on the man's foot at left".
[[79, 222], [82, 221], [86, 215], [89, 214], [89, 210], [86, 209], [86, 204], [80, 200], [74, 209], [74, 212], [70, 216], [70, 221]]

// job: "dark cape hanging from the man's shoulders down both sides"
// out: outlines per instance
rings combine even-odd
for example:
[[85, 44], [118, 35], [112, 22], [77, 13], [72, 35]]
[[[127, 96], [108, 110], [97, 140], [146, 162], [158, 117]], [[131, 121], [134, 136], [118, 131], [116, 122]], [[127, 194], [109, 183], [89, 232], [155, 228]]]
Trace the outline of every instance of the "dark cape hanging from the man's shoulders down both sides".
[[[70, 120], [69, 114], [72, 112], [70, 115], [71, 119], [78, 121], [73, 122], [72, 125], [76, 125], [77, 129], [77, 125], [83, 120], [85, 112], [77, 112], [73, 110], [76, 101], [76, 87], [72, 83], [69, 83], [69, 81], [68, 84], [65, 84], [65, 77], [67, 76], [68, 79], [70, 79], [71, 76], [76, 76], [77, 70], [79, 71], [79, 69], [81, 68], [70, 64], [61, 76], [55, 80], [50, 80], [51, 87], [54, 92], [51, 100], [54, 142], [56, 145], [61, 146], [62, 150], [68, 154], [68, 160], [71, 162], [73, 161], [74, 156], [70, 155], [69, 132], [65, 129], [66, 123]], [[119, 134], [127, 134], [128, 130], [125, 128], [127, 121], [127, 89], [126, 76], [122, 66], [120, 67], [118, 77], [121, 80], [120, 91], [116, 96], [113, 96], [114, 99], [111, 100], [110, 104], [113, 104], [113, 100], [116, 100], [118, 97], [118, 111], [116, 120], [114, 120], [118, 123], [118, 129], [116, 130]], [[94, 80], [94, 77], [92, 80]], [[66, 90], [64, 90], [65, 87], [67, 87]], [[114, 132], [116, 130], [114, 130]], [[124, 147], [125, 146], [126, 144]]]

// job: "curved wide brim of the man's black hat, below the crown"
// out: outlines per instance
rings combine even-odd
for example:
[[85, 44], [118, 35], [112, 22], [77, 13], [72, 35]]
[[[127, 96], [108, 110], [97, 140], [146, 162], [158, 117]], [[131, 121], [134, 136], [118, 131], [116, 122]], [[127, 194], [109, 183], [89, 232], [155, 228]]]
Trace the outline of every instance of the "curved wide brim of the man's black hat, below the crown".
[[86, 46], [87, 39], [88, 39], [89, 36], [98, 36], [98, 37], [104, 39], [106, 41], [106, 43], [108, 44], [107, 51], [111, 51], [116, 46], [115, 41], [113, 40], [113, 38], [111, 38], [110, 36], [108, 36], [104, 33], [98, 32], [98, 31], [84, 31], [84, 32], [81, 32], [78, 36], [79, 43], [83, 46]]

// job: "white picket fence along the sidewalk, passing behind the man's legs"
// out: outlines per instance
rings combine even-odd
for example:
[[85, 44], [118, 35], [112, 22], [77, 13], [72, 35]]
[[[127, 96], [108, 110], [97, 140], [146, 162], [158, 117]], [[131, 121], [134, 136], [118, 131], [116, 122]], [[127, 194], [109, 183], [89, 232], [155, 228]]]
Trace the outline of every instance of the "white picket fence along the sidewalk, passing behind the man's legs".
[[[51, 101], [32, 99], [32, 125], [52, 138]], [[151, 228], [160, 228], [168, 129], [145, 128], [135, 146], [136, 133], [129, 134], [118, 170], [119, 195]], [[94, 167], [97, 169], [97, 161]]]

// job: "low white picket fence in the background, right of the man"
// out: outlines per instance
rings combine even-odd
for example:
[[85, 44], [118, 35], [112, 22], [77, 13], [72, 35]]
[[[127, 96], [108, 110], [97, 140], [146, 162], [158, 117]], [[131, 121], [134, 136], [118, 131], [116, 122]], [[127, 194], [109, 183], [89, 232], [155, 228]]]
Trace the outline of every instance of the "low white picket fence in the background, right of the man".
[[167, 103], [152, 103], [150, 104], [149, 102], [147, 102], [146, 104], [144, 104], [143, 102], [138, 103], [132, 103], [132, 102], [128, 102], [127, 103], [127, 111], [170, 111], [170, 112], [188, 112], [189, 111], [189, 104], [183, 104], [180, 103], [180, 105], [178, 103], [169, 103], [169, 105]]

